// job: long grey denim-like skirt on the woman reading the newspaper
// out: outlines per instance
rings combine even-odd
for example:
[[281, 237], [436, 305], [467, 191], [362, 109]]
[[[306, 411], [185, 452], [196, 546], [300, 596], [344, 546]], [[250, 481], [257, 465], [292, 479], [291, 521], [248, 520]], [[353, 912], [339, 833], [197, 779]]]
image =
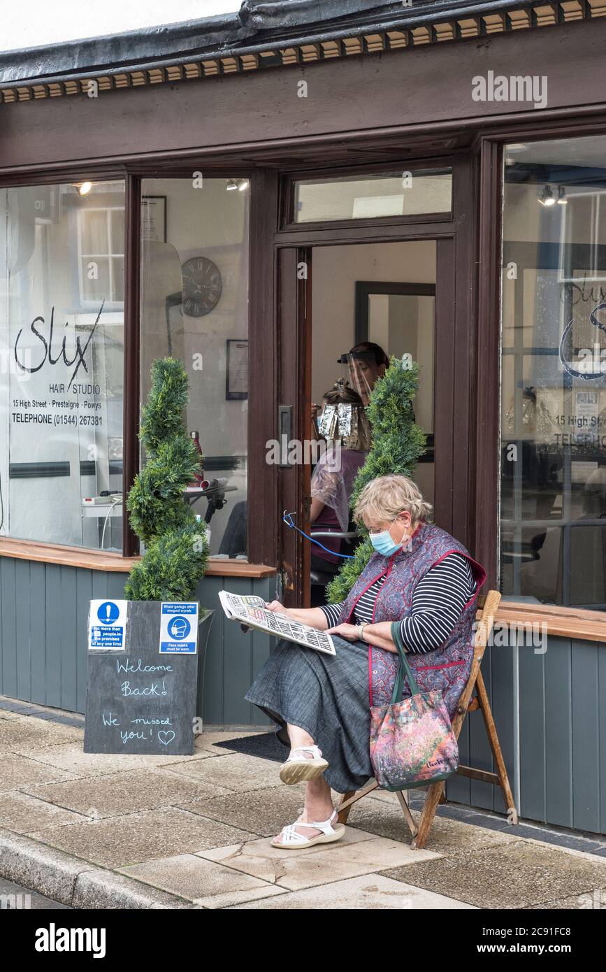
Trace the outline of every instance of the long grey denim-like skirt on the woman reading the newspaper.
[[368, 645], [332, 638], [334, 657], [278, 642], [245, 699], [277, 723], [276, 736], [284, 746], [290, 748], [286, 722], [305, 729], [328, 760], [324, 779], [338, 793], [346, 793], [374, 776]]

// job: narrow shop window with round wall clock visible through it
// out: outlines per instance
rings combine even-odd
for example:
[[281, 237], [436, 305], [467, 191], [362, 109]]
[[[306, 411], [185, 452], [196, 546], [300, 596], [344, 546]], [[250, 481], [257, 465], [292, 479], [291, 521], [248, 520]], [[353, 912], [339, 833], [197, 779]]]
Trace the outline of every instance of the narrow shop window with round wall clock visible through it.
[[[249, 202], [246, 179], [142, 182], [141, 394], [152, 362], [185, 362], [185, 422], [204, 482], [185, 495], [211, 554], [247, 558]], [[140, 457], [145, 463], [145, 455]]]

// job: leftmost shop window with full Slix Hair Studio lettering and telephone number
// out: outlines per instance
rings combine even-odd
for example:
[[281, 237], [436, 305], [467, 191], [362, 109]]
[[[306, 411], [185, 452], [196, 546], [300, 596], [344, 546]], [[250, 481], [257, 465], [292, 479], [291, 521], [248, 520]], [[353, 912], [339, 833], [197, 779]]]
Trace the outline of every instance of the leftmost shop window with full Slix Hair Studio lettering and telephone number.
[[2, 537], [121, 550], [123, 210], [121, 181], [0, 191]]

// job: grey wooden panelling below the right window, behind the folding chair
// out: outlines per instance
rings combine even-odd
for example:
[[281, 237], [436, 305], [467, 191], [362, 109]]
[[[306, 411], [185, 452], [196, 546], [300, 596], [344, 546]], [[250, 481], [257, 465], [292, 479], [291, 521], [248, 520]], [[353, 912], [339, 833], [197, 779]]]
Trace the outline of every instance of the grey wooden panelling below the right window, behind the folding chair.
[[[542, 651], [522, 642], [491, 645], [482, 663], [520, 814], [605, 834], [606, 644], [551, 637]], [[482, 713], [470, 712], [465, 722], [460, 762], [494, 772]], [[487, 783], [455, 777], [447, 796], [506, 812], [500, 789]]]

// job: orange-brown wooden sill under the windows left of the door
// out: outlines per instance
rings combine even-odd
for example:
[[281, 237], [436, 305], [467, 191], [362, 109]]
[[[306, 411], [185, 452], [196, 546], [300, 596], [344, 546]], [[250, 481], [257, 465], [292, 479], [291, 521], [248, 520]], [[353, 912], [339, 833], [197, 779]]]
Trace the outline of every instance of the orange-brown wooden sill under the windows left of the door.
[[[6, 537], [0, 538], [0, 557], [37, 560], [45, 564], [62, 564], [65, 567], [83, 567], [89, 571], [117, 573], [128, 573], [141, 560], [141, 557], [122, 557], [118, 553], [108, 553], [103, 550]], [[273, 577], [276, 569], [265, 564], [249, 564], [248, 561], [243, 560], [214, 560], [211, 557], [206, 573], [211, 577]]]

